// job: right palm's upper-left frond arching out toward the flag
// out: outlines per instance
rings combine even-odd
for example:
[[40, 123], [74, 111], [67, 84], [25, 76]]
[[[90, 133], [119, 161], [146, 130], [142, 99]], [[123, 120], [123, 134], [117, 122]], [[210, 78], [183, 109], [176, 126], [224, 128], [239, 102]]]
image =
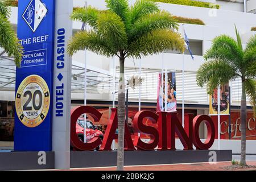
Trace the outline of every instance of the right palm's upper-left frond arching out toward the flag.
[[227, 35], [213, 39], [212, 47], [205, 53], [204, 59], [228, 61], [238, 69], [243, 68], [243, 51], [237, 46], [236, 40]]

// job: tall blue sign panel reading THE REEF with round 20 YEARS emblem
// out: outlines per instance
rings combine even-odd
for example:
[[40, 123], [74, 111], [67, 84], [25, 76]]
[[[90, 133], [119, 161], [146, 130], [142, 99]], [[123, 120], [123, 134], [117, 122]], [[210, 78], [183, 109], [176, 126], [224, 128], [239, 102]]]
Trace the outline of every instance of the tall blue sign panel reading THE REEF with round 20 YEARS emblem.
[[17, 31], [14, 150], [51, 151], [55, 0], [19, 1]]

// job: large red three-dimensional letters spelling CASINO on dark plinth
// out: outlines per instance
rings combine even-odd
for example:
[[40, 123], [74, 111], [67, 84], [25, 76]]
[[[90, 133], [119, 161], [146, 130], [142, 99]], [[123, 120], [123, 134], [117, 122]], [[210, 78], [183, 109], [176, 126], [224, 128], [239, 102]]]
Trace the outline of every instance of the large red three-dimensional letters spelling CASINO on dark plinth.
[[[117, 134], [115, 134], [117, 129], [117, 109], [112, 109], [102, 142], [100, 138], [95, 137], [92, 141], [84, 143], [77, 137], [76, 122], [80, 115], [85, 113], [91, 115], [95, 122], [98, 122], [102, 115], [97, 109], [90, 106], [80, 106], [71, 110], [71, 144], [73, 148], [78, 151], [92, 151], [100, 146], [100, 151], [110, 151], [112, 141], [117, 139]], [[151, 118], [151, 121], [157, 123], [157, 129], [144, 125], [144, 118]], [[201, 142], [199, 138], [201, 122], [205, 122], [208, 130], [205, 142]], [[175, 135], [180, 139], [184, 150], [193, 150], [193, 144], [197, 150], [208, 150], [212, 146], [215, 137], [214, 123], [208, 115], [197, 115], [193, 118], [192, 114], [185, 114], [183, 128], [176, 113], [139, 111], [135, 114], [133, 124], [136, 130], [151, 136], [150, 142], [143, 142], [138, 135], [132, 140], [127, 123], [125, 123], [125, 150], [135, 150], [135, 147], [137, 150], [155, 150], [155, 148], [157, 150], [176, 150]]]

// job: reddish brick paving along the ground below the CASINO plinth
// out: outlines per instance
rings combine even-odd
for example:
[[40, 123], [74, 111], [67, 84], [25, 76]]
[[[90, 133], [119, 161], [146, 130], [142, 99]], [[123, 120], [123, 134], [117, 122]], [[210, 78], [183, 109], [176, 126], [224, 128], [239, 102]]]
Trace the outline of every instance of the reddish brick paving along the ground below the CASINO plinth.
[[[247, 161], [247, 165], [256, 166], [256, 161]], [[216, 164], [209, 163], [189, 163], [189, 164], [170, 164], [156, 166], [126, 166], [125, 171], [226, 171], [225, 166], [230, 166], [231, 162], [217, 162]], [[79, 168], [71, 169], [75, 171], [115, 171], [115, 167], [102, 168]], [[240, 171], [250, 171], [256, 168], [236, 169]]]

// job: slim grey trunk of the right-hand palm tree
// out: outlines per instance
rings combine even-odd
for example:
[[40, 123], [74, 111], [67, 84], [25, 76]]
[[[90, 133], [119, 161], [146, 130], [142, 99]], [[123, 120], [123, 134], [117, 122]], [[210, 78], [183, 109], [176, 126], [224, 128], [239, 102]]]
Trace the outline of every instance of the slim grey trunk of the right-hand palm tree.
[[240, 163], [246, 165], [246, 94], [245, 94], [245, 79], [242, 78], [242, 98], [241, 98], [241, 160]]

